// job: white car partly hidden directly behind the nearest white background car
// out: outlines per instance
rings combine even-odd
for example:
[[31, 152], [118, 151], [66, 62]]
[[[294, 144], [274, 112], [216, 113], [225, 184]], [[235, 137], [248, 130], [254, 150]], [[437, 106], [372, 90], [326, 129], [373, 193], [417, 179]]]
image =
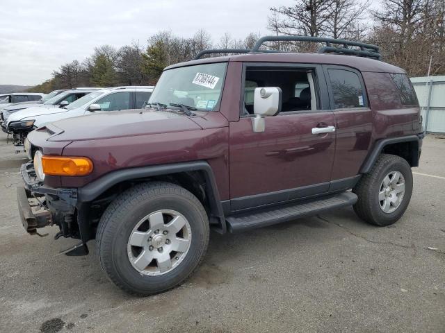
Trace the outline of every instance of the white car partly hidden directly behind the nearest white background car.
[[[90, 94], [90, 92], [94, 92], [99, 89], [104, 88], [76, 88], [76, 89], [63, 89], [63, 90], [54, 90], [54, 92], [51, 92], [45, 96], [45, 98], [38, 102], [27, 102], [27, 103], [13, 103], [6, 108], [3, 108], [3, 110], [0, 111], [0, 119], [2, 121], [7, 121], [8, 117], [19, 111], [24, 110], [28, 108], [58, 108], [59, 106], [66, 106], [77, 99], [80, 99], [81, 97], [85, 96], [86, 94]], [[50, 96], [52, 94], [52, 96]], [[47, 97], [49, 99], [47, 99]]]

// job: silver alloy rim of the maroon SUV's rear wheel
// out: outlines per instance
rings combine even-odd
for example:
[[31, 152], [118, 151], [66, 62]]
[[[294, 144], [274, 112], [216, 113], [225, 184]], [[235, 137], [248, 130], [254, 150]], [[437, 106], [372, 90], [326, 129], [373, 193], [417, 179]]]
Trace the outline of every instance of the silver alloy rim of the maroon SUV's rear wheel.
[[405, 178], [400, 171], [391, 171], [383, 178], [378, 192], [380, 209], [385, 213], [394, 212], [405, 196]]

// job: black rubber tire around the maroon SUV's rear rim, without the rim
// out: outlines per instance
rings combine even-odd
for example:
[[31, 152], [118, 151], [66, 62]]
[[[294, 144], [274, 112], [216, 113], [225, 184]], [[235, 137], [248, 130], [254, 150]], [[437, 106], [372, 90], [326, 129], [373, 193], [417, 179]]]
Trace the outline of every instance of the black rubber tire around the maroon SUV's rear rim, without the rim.
[[[405, 178], [405, 195], [396, 210], [387, 213], [380, 208], [378, 194], [383, 178], [391, 171], [399, 171]], [[412, 194], [412, 171], [410, 164], [402, 157], [382, 154], [375, 162], [371, 171], [362, 176], [353, 192], [358, 196], [354, 210], [360, 219], [373, 225], [391, 225], [402, 217], [410, 203]]]

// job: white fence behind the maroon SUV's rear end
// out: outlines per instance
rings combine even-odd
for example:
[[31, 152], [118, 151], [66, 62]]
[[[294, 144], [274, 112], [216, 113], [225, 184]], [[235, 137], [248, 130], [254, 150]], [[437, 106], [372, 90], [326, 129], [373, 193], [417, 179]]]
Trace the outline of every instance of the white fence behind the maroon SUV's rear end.
[[421, 106], [423, 128], [429, 133], [445, 133], [445, 76], [411, 78]]

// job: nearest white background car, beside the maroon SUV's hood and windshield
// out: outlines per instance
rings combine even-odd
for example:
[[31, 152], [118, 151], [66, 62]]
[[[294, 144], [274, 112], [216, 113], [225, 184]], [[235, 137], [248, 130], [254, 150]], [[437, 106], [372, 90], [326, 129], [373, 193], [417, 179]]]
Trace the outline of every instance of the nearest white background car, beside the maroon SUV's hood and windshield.
[[[4, 131], [13, 133], [14, 145], [22, 146], [31, 130], [53, 121], [92, 114], [143, 108], [153, 92], [152, 86], [115, 87], [97, 90], [61, 108], [28, 108], [5, 121]], [[86, 120], [88, 121], [88, 120]]]

